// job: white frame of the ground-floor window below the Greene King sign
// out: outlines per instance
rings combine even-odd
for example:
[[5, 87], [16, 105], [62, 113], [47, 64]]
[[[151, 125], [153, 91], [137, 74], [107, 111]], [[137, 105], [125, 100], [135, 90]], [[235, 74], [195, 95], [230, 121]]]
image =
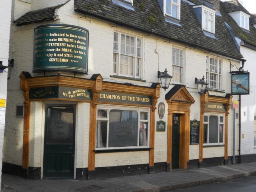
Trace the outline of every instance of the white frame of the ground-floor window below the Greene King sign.
[[[224, 145], [225, 144], [225, 114], [224, 113], [204, 113], [204, 116], [208, 116], [208, 122], [204, 121], [204, 125], [207, 124], [207, 143], [204, 143], [204, 146], [211, 146], [211, 145]], [[218, 142], [217, 143], [209, 143], [209, 121], [210, 116], [217, 116], [218, 117]], [[223, 118], [223, 122], [220, 122], [220, 117]], [[220, 142], [220, 124], [223, 125], [222, 127], [222, 133], [223, 133], [223, 142]], [[204, 126], [203, 126], [204, 128]], [[203, 141], [204, 142], [204, 141]]]

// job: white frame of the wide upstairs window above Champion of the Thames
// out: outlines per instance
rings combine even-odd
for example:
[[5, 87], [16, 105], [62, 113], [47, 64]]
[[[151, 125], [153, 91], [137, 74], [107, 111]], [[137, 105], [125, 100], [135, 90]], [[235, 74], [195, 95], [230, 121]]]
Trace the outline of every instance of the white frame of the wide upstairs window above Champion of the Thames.
[[[114, 34], [117, 33], [118, 34], [118, 41], [114, 41]], [[128, 55], [128, 54], [121, 54], [121, 35], [125, 35], [125, 36], [130, 36], [130, 37], [134, 37], [134, 56], [132, 56], [131, 54]], [[138, 47], [138, 44], [137, 44], [137, 39], [140, 39], [140, 47]], [[126, 32], [122, 32], [122, 31], [118, 31], [118, 30], [115, 30], [113, 32], [113, 65], [112, 65], [112, 72], [114, 75], [117, 75], [117, 76], [125, 76], [125, 77], [130, 77], [130, 78], [142, 78], [142, 66], [143, 66], [143, 55], [144, 55], [144, 52], [143, 52], [143, 46], [144, 46], [144, 38], [142, 36], [137, 36], [137, 35], [134, 35], [134, 34], [129, 34], [129, 33], [126, 33]], [[118, 44], [118, 50], [114, 50], [114, 43], [117, 43]], [[140, 56], [137, 55], [137, 48], [140, 48]], [[114, 54], [117, 54], [117, 60], [116, 62], [114, 62]], [[120, 59], [121, 59], [121, 55], [124, 55], [124, 56], [128, 56], [128, 57], [133, 57], [134, 58], [134, 66], [133, 66], [133, 69], [132, 69], [132, 75], [129, 75], [129, 74], [122, 74], [120, 72]], [[140, 59], [140, 64], [138, 64], [138, 60], [137, 59]], [[114, 71], [114, 68], [115, 68], [115, 65], [116, 64], [116, 71]], [[138, 66], [140, 65], [140, 66]], [[138, 75], [137, 75], [137, 69], [139, 70], [138, 71]]]

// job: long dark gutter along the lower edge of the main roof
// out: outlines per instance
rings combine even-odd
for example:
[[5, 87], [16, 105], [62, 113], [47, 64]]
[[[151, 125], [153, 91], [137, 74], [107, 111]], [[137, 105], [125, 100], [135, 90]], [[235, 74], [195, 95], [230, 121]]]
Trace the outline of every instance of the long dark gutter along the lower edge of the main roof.
[[218, 52], [218, 51], [215, 51], [215, 50], [205, 48], [203, 46], [198, 46], [198, 45], [193, 44], [193, 43], [188, 43], [186, 41], [182, 41], [180, 39], [175, 39], [175, 38], [171, 38], [169, 36], [158, 34], [156, 32], [152, 32], [151, 30], [147, 30], [147, 29], [144, 29], [144, 28], [140, 28], [140, 27], [136, 27], [136, 26], [133, 26], [133, 25], [130, 25], [130, 24], [126, 24], [124, 22], [120, 22], [120, 21], [117, 21], [117, 20], [114, 20], [114, 19], [111, 19], [111, 18], [106, 18], [105, 16], [102, 16], [102, 15], [99, 15], [99, 14], [96, 14], [96, 13], [93, 13], [93, 12], [89, 12], [88, 10], [84, 10], [84, 9], [81, 9], [81, 8], [74, 8], [74, 11], [78, 12], [78, 13], [85, 14], [85, 15], [93, 16], [93, 17], [96, 17], [96, 18], [99, 18], [101, 20], [105, 20], [105, 21], [108, 21], [108, 22], [111, 22], [111, 23], [114, 23], [114, 24], [117, 24], [118, 26], [124, 26], [124, 27], [128, 27], [128, 28], [132, 28], [132, 29], [135, 29], [135, 30], [138, 30], [138, 31], [141, 31], [141, 32], [145, 32], [145, 33], [148, 33], [148, 34], [152, 34], [154, 36], [158, 36], [158, 37], [162, 37], [162, 38], [165, 38], [165, 39], [168, 39], [168, 40], [173, 40], [173, 41], [176, 41], [176, 42], [187, 44], [187, 45], [190, 45], [190, 46], [193, 46], [193, 47], [197, 47], [197, 48], [200, 48], [200, 49], [203, 49], [203, 50], [215, 53], [215, 54], [219, 54], [219, 55], [222, 55], [222, 56], [226, 56], [226, 57], [229, 57], [229, 58], [233, 58], [233, 59], [236, 59], [236, 60], [239, 60], [239, 61], [244, 61], [244, 62], [246, 61], [246, 60], [244, 60], [240, 57], [224, 54], [224, 53], [221, 53], [221, 52]]

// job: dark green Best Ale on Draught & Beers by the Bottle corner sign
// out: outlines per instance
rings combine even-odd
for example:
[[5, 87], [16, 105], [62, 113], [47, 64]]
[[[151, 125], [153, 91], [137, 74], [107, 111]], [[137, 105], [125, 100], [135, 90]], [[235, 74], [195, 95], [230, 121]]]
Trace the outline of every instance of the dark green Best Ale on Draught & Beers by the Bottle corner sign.
[[92, 91], [90, 89], [62, 86], [30, 88], [29, 90], [29, 99], [40, 100], [52, 98], [92, 100]]

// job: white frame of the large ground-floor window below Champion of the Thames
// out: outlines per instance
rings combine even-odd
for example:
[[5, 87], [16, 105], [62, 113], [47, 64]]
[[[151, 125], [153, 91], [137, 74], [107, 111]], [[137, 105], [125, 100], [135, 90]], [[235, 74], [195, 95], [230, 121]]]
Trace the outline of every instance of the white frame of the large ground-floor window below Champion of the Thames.
[[[98, 110], [107, 110], [107, 117], [101, 118], [98, 117]], [[109, 138], [109, 112], [110, 110], [130, 110], [130, 111], [137, 111], [138, 112], [138, 136], [137, 136], [137, 146], [126, 146], [126, 147], [108, 147], [108, 138]], [[140, 112], [147, 112], [148, 113], [148, 119], [147, 120], [141, 120], [140, 119]], [[108, 150], [108, 149], [130, 149], [130, 148], [148, 148], [149, 147], [149, 141], [150, 141], [150, 108], [147, 107], [132, 107], [132, 106], [117, 106], [117, 105], [98, 105], [97, 106], [97, 121], [103, 120], [107, 121], [107, 138], [106, 138], [106, 147], [104, 148], [97, 148], [96, 150]], [[147, 122], [148, 123], [148, 132], [147, 132], [147, 145], [146, 146], [140, 146], [140, 122]], [[96, 127], [97, 132], [97, 127]], [[97, 135], [96, 135], [97, 137]], [[96, 138], [97, 140], [97, 138]]]

